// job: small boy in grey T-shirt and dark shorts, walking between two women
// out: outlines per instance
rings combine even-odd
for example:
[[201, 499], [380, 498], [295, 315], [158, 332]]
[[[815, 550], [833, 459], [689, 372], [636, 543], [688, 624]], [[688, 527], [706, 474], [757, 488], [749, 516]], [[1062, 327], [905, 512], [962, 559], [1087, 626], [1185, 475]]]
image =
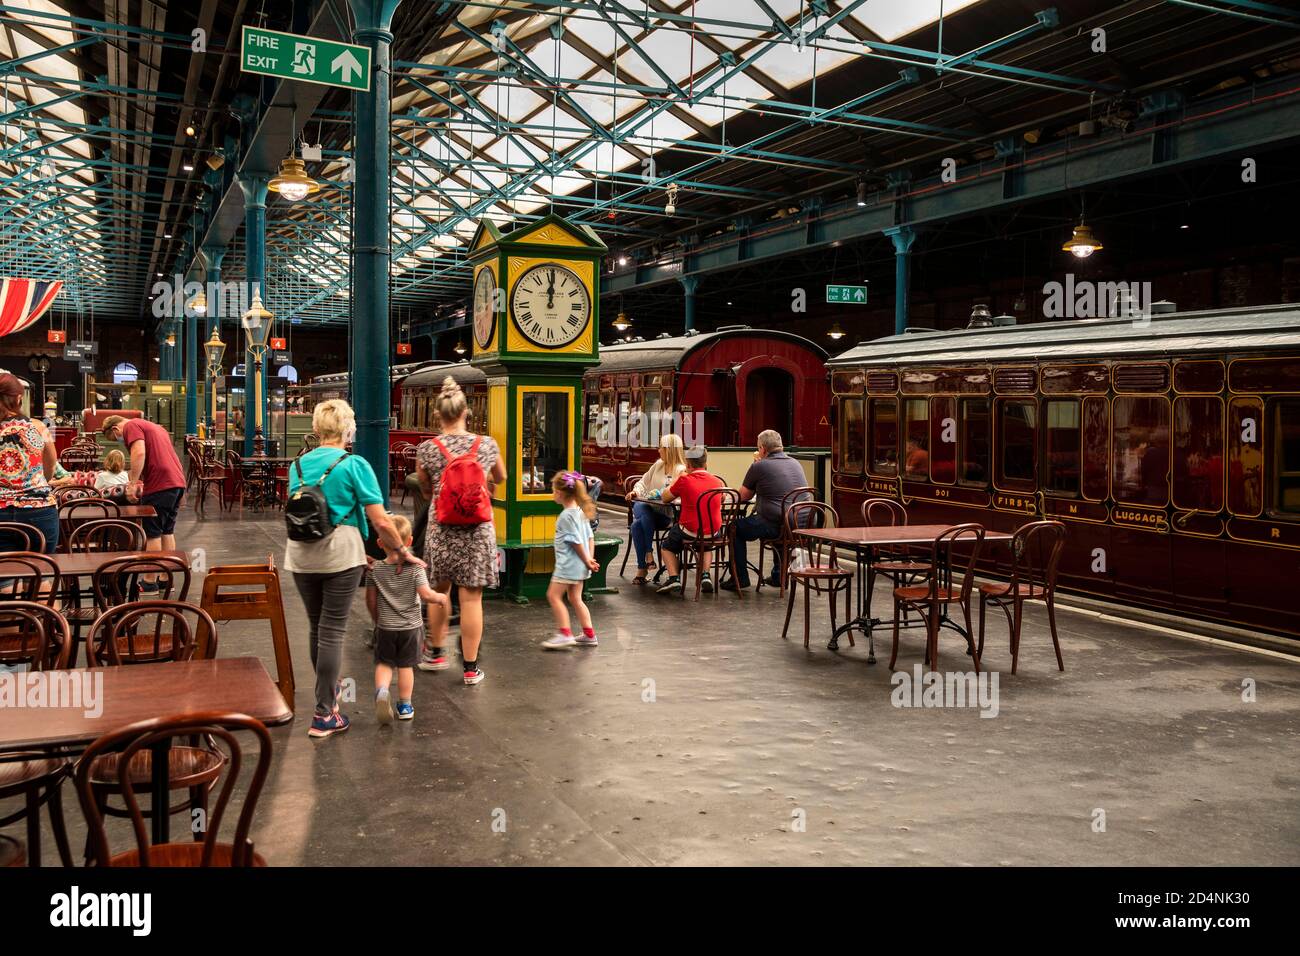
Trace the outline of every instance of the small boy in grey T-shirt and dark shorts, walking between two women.
[[[411, 544], [411, 522], [403, 515], [390, 515], [398, 536]], [[374, 620], [374, 714], [380, 723], [394, 717], [389, 684], [398, 672], [396, 718], [415, 717], [411, 692], [415, 689], [415, 666], [424, 643], [424, 602], [446, 606], [447, 596], [429, 587], [429, 578], [419, 564], [396, 566], [396, 551], [385, 546], [385, 561], [370, 566], [365, 578], [365, 607]]]

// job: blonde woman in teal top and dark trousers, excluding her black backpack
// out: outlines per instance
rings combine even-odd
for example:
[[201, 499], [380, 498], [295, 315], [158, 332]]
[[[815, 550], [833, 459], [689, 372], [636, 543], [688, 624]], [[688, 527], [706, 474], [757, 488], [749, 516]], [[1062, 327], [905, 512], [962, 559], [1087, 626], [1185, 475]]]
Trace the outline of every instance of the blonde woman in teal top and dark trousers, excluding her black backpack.
[[[347, 453], [346, 446], [356, 434], [356, 416], [347, 402], [321, 402], [312, 414], [312, 431], [320, 447], [298, 458], [289, 470], [289, 493], [302, 485], [320, 485], [329, 503], [334, 531], [320, 541], [289, 541], [285, 570], [294, 575], [294, 584], [307, 606], [311, 623], [312, 666], [316, 669], [316, 714], [313, 737], [328, 737], [348, 728], [348, 719], [338, 710], [338, 672], [343, 659], [343, 636], [347, 633], [352, 598], [365, 572], [365, 538], [369, 525], [400, 561], [422, 566], [384, 510], [384, 493], [370, 463]], [[330, 471], [330, 466], [333, 471]], [[299, 475], [300, 472], [300, 475]]]

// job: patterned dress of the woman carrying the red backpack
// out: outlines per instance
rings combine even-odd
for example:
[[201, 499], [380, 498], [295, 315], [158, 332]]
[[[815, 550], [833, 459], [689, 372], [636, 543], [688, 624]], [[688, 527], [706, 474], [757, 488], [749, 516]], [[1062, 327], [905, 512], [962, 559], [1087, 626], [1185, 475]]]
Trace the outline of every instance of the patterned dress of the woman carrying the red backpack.
[[[442, 434], [441, 441], [452, 455], [463, 455], [474, 444], [476, 434]], [[478, 464], [490, 475], [500, 449], [490, 437], [481, 436]], [[463, 588], [497, 587], [497, 529], [491, 522], [482, 524], [438, 524], [438, 492], [447, 460], [432, 441], [416, 449], [416, 460], [429, 473], [433, 497], [429, 501], [429, 529], [425, 533], [424, 559], [429, 562], [429, 580], [451, 581]]]

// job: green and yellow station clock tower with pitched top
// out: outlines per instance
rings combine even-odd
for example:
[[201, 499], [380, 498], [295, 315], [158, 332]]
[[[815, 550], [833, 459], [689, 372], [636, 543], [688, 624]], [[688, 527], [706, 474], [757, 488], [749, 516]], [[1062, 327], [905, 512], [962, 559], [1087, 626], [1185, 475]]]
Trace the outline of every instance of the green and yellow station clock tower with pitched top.
[[551, 479], [581, 471], [582, 372], [599, 362], [607, 252], [590, 226], [555, 215], [510, 233], [482, 220], [469, 247], [471, 362], [488, 375], [488, 433], [506, 457], [493, 519], [515, 597], [545, 593], [559, 515]]

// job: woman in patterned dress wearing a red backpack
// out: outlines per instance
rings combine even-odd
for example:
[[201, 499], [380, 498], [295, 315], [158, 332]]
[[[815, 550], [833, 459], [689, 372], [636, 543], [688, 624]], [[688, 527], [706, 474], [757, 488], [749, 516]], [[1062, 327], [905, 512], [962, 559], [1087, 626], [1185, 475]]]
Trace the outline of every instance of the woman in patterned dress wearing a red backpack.
[[[450, 376], [438, 395], [442, 433], [416, 449], [416, 475], [429, 498], [425, 559], [429, 580], [446, 593], [458, 588], [460, 656], [467, 684], [484, 679], [478, 644], [484, 633], [484, 588], [497, 587], [497, 529], [491, 523], [491, 489], [506, 480], [500, 449], [489, 436], [465, 428], [469, 405]], [[429, 606], [429, 639], [420, 670], [447, 669], [447, 609]]]

